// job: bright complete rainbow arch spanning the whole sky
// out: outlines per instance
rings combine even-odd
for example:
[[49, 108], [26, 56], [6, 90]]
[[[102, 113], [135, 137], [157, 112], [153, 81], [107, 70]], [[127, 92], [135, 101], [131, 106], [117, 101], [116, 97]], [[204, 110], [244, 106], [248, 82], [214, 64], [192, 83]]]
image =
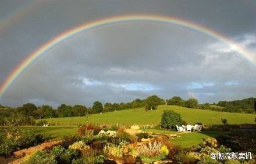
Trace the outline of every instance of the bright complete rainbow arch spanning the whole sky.
[[187, 27], [192, 30], [202, 32], [206, 35], [209, 35], [213, 38], [216, 38], [223, 43], [226, 43], [230, 46], [233, 50], [236, 50], [240, 54], [242, 54], [248, 61], [251, 61], [251, 63], [255, 64], [256, 59], [254, 56], [252, 56], [249, 52], [247, 52], [246, 49], [242, 48], [241, 46], [237, 45], [237, 43], [233, 42], [231, 39], [224, 37], [223, 35], [219, 34], [216, 31], [213, 31], [207, 27], [203, 27], [201, 25], [192, 23], [190, 21], [177, 19], [175, 17], [170, 16], [158, 16], [158, 15], [150, 15], [150, 14], [135, 14], [135, 15], [124, 15], [124, 16], [116, 16], [116, 17], [108, 17], [106, 19], [96, 20], [92, 21], [90, 23], [82, 24], [78, 27], [73, 28], [72, 30], [63, 32], [62, 34], [58, 35], [58, 37], [55, 37], [51, 41], [45, 43], [40, 48], [35, 50], [33, 53], [29, 55], [26, 59], [22, 61], [8, 76], [8, 78], [5, 79], [3, 84], [0, 88], [0, 97], [3, 95], [3, 93], [6, 92], [6, 90], [9, 88], [9, 86], [15, 81], [15, 79], [31, 64], [37, 57], [41, 56], [42, 54], [45, 54], [47, 50], [53, 48], [54, 46], [58, 45], [59, 43], [65, 41], [66, 39], [79, 34], [79, 32], [82, 32], [84, 30], [89, 30], [95, 27], [101, 27], [103, 25], [108, 25], [112, 23], [122, 23], [125, 21], [156, 21], [158, 23], [169, 23], [169, 24], [175, 24], [180, 25], [182, 27]]

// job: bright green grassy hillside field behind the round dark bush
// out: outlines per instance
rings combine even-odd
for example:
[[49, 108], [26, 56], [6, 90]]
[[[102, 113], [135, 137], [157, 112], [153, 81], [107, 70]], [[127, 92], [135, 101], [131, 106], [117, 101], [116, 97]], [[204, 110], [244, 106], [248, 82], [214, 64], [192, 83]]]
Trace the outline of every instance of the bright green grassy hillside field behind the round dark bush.
[[[138, 124], [138, 125], [159, 125], [164, 110], [173, 110], [180, 115], [187, 123], [202, 122], [204, 124], [221, 124], [221, 118], [226, 118], [229, 124], [239, 123], [255, 123], [254, 114], [240, 114], [230, 112], [218, 112], [208, 110], [198, 110], [172, 105], [160, 105], [155, 111], [144, 111], [144, 108], [131, 110], [123, 110], [116, 112], [107, 112], [103, 114], [93, 114], [89, 116], [89, 121], [93, 123], [109, 123], [109, 124]], [[45, 119], [49, 123], [58, 123], [58, 125], [69, 125], [72, 123], [85, 123], [85, 116], [51, 118]]]

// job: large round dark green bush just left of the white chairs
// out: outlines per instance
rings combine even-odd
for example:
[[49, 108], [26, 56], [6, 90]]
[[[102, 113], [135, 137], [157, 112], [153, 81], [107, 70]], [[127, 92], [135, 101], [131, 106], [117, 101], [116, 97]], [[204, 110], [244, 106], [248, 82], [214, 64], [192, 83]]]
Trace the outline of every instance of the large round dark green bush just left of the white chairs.
[[163, 111], [161, 125], [165, 129], [176, 129], [176, 125], [182, 125], [182, 117], [174, 111]]

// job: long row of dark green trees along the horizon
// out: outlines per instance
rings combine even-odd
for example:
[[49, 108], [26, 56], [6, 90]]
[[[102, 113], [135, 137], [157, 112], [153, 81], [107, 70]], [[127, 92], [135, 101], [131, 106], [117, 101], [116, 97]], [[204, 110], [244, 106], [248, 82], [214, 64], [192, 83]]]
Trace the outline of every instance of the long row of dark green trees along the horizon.
[[150, 111], [157, 110], [158, 105], [163, 104], [202, 110], [253, 113], [254, 100], [254, 98], [248, 98], [235, 101], [219, 101], [217, 104], [198, 104], [197, 99], [183, 100], [179, 96], [174, 96], [171, 99], [163, 100], [153, 95], [143, 100], [135, 99], [129, 103], [105, 103], [103, 105], [100, 101], [95, 101], [91, 107], [61, 104], [58, 108], [54, 109], [49, 105], [37, 107], [33, 103], [27, 103], [17, 108], [3, 107], [0, 105], [0, 125], [33, 125], [35, 123], [34, 119], [83, 116], [139, 107], [144, 107], [145, 110]]

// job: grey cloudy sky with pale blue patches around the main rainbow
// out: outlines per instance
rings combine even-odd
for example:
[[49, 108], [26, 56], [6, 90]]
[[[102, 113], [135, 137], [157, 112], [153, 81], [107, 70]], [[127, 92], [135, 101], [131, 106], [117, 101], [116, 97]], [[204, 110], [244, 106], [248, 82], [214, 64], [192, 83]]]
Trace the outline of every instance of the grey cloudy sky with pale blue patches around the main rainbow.
[[[62, 32], [106, 17], [176, 17], [224, 35], [256, 61], [256, 1], [1, 0], [0, 84], [34, 50]], [[256, 97], [256, 64], [200, 31], [156, 21], [126, 21], [80, 32], [20, 74], [0, 104], [90, 106], [157, 94], [200, 103]]]

